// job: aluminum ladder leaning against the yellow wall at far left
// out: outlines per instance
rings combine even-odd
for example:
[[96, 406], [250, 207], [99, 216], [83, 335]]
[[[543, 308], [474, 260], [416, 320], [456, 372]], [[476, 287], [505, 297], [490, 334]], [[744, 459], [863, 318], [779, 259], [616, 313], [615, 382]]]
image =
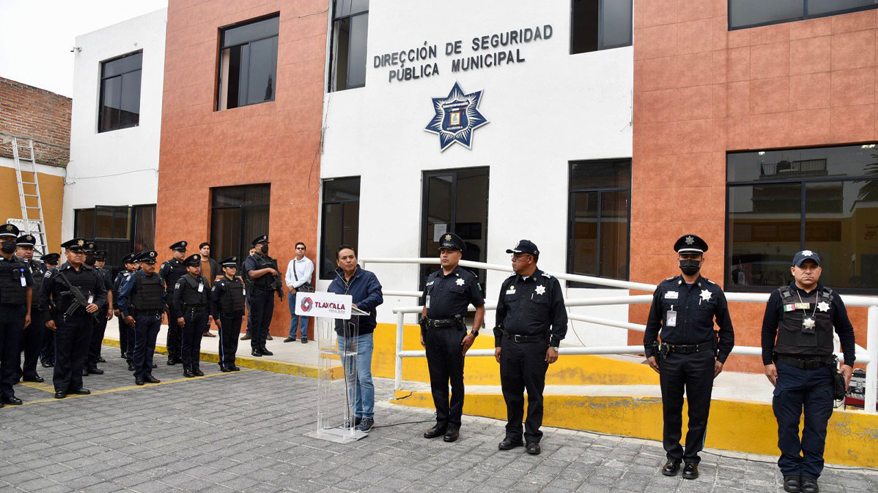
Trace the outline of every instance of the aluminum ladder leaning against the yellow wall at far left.
[[[12, 161], [15, 161], [15, 177], [18, 180], [18, 201], [21, 203], [21, 218], [25, 226], [23, 232], [39, 239], [39, 247], [34, 246], [34, 250], [41, 257], [46, 254], [46, 223], [43, 218], [43, 201], [40, 198], [40, 180], [37, 178], [37, 161], [36, 155], [33, 154], [32, 139], [12, 138]], [[34, 198], [36, 201], [33, 200]], [[33, 205], [34, 202], [36, 205]], [[31, 230], [33, 223], [37, 227], [35, 232]]]

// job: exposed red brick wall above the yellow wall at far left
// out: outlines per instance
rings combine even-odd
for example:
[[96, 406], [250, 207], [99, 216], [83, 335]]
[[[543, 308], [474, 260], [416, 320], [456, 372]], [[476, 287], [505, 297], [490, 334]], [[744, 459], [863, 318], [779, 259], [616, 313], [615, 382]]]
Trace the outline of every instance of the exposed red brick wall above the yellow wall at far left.
[[[0, 133], [34, 139], [37, 162], [66, 167], [70, 161], [69, 97], [0, 77]], [[10, 144], [0, 157], [12, 157]]]

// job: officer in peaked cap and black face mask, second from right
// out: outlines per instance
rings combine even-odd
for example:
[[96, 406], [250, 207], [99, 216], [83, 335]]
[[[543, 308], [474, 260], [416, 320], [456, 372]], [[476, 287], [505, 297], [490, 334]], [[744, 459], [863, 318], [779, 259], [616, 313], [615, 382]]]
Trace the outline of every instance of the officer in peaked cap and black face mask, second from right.
[[[685, 234], [673, 244], [681, 275], [659, 284], [652, 295], [646, 320], [644, 348], [647, 361], [659, 373], [665, 417], [664, 442], [667, 461], [662, 474], [677, 475], [680, 462], [683, 478], [698, 477], [698, 453], [704, 447], [713, 381], [735, 345], [729, 304], [723, 289], [702, 277], [699, 271], [708, 244], [694, 234]], [[714, 330], [714, 318], [719, 332]], [[661, 345], [656, 338], [661, 332]], [[680, 446], [683, 425], [683, 390], [689, 404], [686, 448]]]

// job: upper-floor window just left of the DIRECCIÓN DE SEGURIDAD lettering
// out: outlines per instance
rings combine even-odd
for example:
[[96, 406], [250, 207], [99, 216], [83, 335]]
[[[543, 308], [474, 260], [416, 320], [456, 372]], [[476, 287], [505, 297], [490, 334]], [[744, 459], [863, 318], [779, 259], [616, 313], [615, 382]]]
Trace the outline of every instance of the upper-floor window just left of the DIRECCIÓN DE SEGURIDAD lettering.
[[369, 33], [369, 0], [335, 0], [329, 90], [366, 85], [366, 39]]

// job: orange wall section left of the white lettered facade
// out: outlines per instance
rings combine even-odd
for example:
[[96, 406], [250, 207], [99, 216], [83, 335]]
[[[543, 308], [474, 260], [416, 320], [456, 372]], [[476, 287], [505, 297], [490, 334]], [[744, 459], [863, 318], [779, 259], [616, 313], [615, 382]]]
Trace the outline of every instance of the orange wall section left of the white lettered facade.
[[[280, 12], [275, 100], [215, 111], [219, 28]], [[210, 238], [212, 187], [270, 183], [271, 254], [317, 251], [327, 1], [170, 0], [155, 245]], [[193, 250], [194, 253], [194, 250]], [[276, 298], [272, 333], [286, 332]]]

